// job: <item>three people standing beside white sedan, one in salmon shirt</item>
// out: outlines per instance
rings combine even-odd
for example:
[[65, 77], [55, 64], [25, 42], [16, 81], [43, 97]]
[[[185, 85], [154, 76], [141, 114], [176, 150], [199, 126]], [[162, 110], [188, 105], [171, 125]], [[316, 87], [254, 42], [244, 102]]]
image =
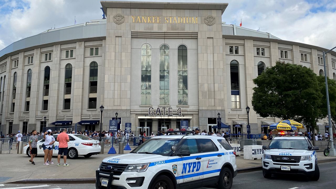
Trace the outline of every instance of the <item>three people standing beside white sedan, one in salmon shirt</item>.
[[[60, 166], [60, 158], [63, 155], [64, 164], [63, 166], [69, 166], [67, 163], [68, 155], [68, 142], [70, 141], [69, 135], [67, 134], [67, 129], [63, 129], [59, 135], [57, 135], [58, 144], [58, 156], [57, 156], [57, 166]], [[19, 133], [19, 132], [18, 132]], [[54, 164], [52, 161], [52, 151], [54, 149], [55, 138], [53, 137], [54, 132], [50, 129], [43, 133], [44, 144], [42, 144], [44, 151], [44, 163], [43, 165]], [[30, 159], [29, 162], [35, 165], [34, 157], [37, 155], [37, 141], [38, 135], [36, 130], [32, 130], [32, 135], [29, 137], [28, 144], [30, 149]]]

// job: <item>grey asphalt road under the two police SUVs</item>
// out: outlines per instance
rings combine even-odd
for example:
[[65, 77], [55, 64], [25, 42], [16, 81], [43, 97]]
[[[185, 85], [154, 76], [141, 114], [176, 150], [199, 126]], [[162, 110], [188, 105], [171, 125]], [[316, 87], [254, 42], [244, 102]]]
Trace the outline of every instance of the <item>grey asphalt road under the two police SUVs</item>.
[[[320, 163], [320, 180], [308, 181], [298, 175], [276, 175], [265, 179], [262, 171], [240, 173], [234, 178], [232, 189], [332, 189], [336, 188], [336, 163]], [[215, 186], [195, 189], [211, 189]], [[94, 189], [94, 184], [0, 184], [0, 189]]]

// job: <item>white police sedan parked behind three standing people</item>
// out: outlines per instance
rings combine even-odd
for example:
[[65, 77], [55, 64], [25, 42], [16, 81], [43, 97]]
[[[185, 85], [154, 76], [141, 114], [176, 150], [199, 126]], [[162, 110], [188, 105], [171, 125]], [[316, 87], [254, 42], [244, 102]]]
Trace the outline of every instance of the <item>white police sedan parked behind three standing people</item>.
[[[58, 142], [57, 135], [54, 134], [55, 138], [53, 156], [58, 154]], [[84, 157], [90, 157], [91, 155], [96, 155], [100, 153], [100, 143], [97, 140], [93, 140], [84, 135], [68, 134], [70, 142], [68, 142], [68, 158], [76, 159], [79, 155]], [[44, 139], [37, 141], [37, 155], [44, 155], [42, 144], [44, 144]], [[30, 157], [29, 144], [27, 143], [23, 149], [24, 152]]]

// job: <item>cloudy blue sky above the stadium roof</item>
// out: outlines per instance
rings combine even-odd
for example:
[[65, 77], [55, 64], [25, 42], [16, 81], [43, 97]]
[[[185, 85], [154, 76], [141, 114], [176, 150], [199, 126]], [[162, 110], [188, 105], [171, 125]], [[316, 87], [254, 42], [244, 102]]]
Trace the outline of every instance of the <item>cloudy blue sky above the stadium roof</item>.
[[[149, 0], [147, 0], [149, 1]], [[156, 0], [161, 1], [161, 0]], [[170, 2], [181, 2], [170, 0]], [[269, 32], [283, 40], [336, 46], [336, 0], [184, 0], [224, 2], [226, 24]], [[0, 49], [12, 42], [102, 18], [98, 0], [0, 0]]]

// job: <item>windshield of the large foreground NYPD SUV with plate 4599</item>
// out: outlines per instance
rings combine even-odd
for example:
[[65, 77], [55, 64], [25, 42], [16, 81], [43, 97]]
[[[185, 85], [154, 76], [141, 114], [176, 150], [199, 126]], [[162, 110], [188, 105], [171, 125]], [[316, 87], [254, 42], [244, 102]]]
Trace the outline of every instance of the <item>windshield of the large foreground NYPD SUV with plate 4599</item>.
[[181, 139], [150, 139], [146, 141], [131, 153], [146, 153], [169, 156], [171, 154], [171, 147], [177, 145]]

